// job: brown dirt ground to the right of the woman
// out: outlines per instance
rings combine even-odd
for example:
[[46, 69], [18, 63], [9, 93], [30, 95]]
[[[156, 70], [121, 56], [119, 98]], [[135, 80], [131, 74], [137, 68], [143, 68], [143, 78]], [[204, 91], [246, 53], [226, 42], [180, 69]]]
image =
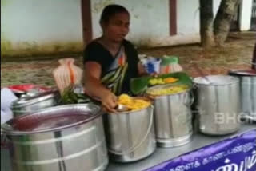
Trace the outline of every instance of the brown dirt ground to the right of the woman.
[[226, 74], [231, 69], [250, 69], [256, 33], [232, 33], [222, 48], [203, 50], [199, 45], [160, 47], [140, 50], [142, 54], [162, 56], [176, 55], [184, 70], [192, 77], [200, 75], [194, 67], [198, 64], [204, 74]]

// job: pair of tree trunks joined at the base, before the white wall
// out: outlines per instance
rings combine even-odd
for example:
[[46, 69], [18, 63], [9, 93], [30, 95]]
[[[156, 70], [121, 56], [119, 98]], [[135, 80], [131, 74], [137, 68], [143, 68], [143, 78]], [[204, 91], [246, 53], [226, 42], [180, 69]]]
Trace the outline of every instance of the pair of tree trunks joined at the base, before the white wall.
[[200, 0], [200, 32], [203, 47], [223, 46], [241, 1], [222, 0], [214, 19], [213, 0]]

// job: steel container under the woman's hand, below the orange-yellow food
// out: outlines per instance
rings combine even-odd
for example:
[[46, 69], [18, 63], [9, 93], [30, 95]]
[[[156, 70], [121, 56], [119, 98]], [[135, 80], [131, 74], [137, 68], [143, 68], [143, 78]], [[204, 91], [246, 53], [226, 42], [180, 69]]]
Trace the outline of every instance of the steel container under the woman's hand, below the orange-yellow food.
[[107, 145], [113, 161], [138, 161], [154, 153], [152, 106], [138, 111], [109, 113], [105, 117]]

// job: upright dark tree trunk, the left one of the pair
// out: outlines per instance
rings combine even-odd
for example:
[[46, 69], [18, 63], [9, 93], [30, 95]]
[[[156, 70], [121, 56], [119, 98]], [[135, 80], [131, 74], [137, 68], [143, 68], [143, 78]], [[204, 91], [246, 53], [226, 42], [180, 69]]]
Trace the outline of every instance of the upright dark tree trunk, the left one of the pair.
[[200, 0], [200, 34], [202, 47], [210, 48], [214, 42], [213, 0]]

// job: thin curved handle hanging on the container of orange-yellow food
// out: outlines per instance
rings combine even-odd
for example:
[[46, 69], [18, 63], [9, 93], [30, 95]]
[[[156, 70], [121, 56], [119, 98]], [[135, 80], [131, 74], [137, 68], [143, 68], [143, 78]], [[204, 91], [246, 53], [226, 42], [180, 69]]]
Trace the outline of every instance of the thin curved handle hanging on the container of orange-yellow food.
[[109, 149], [108, 151], [110, 153], [114, 153], [116, 155], [126, 155], [128, 153], [134, 152], [136, 149], [138, 149], [146, 141], [146, 137], [148, 137], [148, 135], [150, 134], [150, 129], [152, 128], [152, 125], [153, 125], [154, 106], [150, 105], [150, 108], [152, 108], [151, 113], [150, 113], [150, 123], [149, 123], [148, 129], [146, 130], [146, 135], [142, 138], [142, 141], [140, 141], [138, 143], [138, 145], [134, 145], [133, 147], [130, 147], [130, 149], [126, 149], [123, 153], [119, 153], [119, 152], [116, 152], [114, 150]]

